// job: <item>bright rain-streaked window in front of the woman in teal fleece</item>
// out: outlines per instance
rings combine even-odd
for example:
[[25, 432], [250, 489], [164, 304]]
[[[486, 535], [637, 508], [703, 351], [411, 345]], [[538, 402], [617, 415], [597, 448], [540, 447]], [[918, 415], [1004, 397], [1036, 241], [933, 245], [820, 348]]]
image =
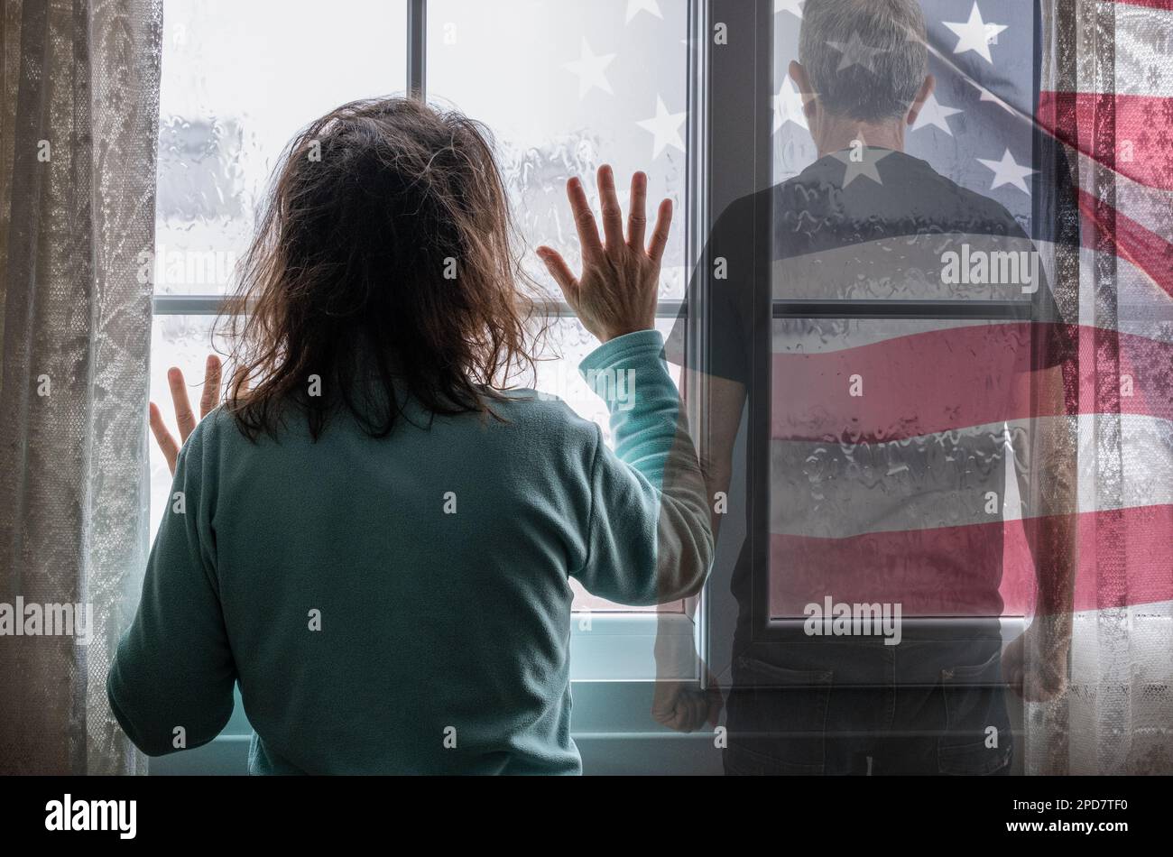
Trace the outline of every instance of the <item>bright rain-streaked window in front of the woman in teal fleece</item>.
[[[491, 129], [527, 244], [557, 247], [571, 265], [577, 239], [565, 179], [591, 176], [605, 159], [625, 198], [624, 177], [647, 171], [650, 199], [671, 197], [677, 211], [662, 280], [658, 327], [666, 335], [689, 270], [687, 12], [687, 0], [340, 0], [327, 15], [279, 0], [165, 0], [151, 399], [170, 401], [170, 366], [189, 383], [202, 378], [216, 295], [232, 288], [255, 206], [285, 144], [338, 104], [409, 88]], [[577, 373], [595, 340], [537, 258], [526, 261], [550, 301], [536, 386], [609, 437], [605, 408]], [[169, 485], [152, 449], [152, 526]], [[598, 614], [576, 624], [590, 628], [576, 649], [576, 678], [649, 678], [653, 615], [572, 585], [575, 608]], [[684, 631], [692, 633], [691, 621]], [[636, 638], [646, 652], [621, 662], [616, 653], [630, 654]]]

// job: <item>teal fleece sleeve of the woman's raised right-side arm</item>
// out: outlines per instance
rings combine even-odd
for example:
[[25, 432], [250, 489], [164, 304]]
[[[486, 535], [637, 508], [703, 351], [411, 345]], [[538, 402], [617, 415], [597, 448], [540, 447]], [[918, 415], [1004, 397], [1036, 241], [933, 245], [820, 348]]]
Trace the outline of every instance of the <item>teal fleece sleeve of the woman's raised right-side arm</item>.
[[705, 483], [657, 331], [601, 346], [579, 372], [608, 404], [615, 450], [596, 434], [583, 566], [589, 592], [647, 605], [696, 593], [713, 537]]

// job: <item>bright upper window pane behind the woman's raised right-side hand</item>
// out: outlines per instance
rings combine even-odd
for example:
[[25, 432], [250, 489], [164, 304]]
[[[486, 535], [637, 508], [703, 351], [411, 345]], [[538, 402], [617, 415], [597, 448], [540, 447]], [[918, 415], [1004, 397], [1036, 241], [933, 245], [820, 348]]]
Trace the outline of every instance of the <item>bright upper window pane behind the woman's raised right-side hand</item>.
[[[626, 205], [631, 174], [649, 176], [651, 206], [676, 205], [662, 297], [685, 288], [684, 193], [687, 102], [686, 0], [432, 0], [428, 98], [495, 134], [527, 243], [547, 244], [577, 266], [564, 185], [615, 168]], [[533, 254], [529, 265], [557, 286]]]

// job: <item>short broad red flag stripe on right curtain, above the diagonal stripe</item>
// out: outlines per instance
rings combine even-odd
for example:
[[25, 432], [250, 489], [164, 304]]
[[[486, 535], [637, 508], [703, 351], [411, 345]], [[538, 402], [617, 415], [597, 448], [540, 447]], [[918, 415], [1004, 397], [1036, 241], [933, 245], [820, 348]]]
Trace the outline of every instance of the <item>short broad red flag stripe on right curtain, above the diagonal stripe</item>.
[[[1097, 114], [1114, 111], [1113, 163], [1096, 147]], [[1038, 122], [1049, 134], [1090, 158], [1150, 188], [1173, 190], [1173, 98], [1151, 95], [1039, 93]]]

